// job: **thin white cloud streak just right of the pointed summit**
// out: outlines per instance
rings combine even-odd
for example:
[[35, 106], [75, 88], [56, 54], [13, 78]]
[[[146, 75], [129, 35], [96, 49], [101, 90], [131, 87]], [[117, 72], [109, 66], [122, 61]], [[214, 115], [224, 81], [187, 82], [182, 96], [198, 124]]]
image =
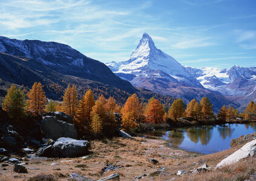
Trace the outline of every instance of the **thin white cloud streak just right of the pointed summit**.
[[188, 49], [188, 48], [199, 48], [199, 47], [217, 45], [217, 43], [206, 41], [208, 39], [209, 38], [185, 40], [183, 42], [179, 42], [179, 43], [172, 45], [172, 48]]

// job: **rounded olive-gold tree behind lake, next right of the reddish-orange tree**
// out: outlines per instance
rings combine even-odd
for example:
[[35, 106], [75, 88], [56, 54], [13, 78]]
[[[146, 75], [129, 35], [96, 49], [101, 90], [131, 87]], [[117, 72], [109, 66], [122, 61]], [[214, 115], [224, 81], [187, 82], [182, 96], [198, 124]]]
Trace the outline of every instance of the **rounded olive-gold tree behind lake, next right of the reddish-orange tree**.
[[175, 100], [171, 104], [171, 107], [169, 108], [169, 111], [168, 111], [169, 117], [174, 119], [175, 121], [177, 120], [177, 118], [182, 117], [184, 113], [185, 113], [185, 104], [180, 98]]

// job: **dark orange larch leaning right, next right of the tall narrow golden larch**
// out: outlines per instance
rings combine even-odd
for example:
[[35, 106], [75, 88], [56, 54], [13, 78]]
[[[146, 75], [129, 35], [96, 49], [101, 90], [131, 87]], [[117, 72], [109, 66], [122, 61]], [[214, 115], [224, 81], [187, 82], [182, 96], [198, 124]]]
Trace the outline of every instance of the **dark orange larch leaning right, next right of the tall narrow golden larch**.
[[94, 104], [93, 91], [89, 89], [84, 97], [82, 97], [82, 100], [79, 101], [76, 112], [76, 121], [79, 122], [79, 124], [88, 125], [90, 123], [90, 113]]

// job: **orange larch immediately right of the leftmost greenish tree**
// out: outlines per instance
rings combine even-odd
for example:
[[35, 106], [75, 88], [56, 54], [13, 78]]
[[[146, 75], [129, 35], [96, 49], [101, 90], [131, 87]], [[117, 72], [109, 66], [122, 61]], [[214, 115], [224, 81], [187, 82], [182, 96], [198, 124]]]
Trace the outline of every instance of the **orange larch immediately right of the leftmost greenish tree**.
[[29, 104], [28, 110], [30, 110], [33, 115], [41, 115], [44, 113], [44, 107], [47, 99], [42, 87], [44, 86], [42, 86], [40, 82], [35, 82], [27, 95]]

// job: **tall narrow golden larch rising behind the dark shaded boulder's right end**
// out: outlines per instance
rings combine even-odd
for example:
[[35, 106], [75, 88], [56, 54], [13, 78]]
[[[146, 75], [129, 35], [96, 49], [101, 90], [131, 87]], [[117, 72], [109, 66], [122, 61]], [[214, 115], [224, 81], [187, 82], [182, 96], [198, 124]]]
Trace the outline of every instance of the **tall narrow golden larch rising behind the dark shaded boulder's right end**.
[[79, 104], [78, 100], [78, 92], [76, 86], [73, 85], [72, 87], [68, 84], [67, 89], [65, 89], [64, 97], [63, 97], [63, 110], [64, 113], [70, 115], [73, 119], [76, 116], [76, 110]]

